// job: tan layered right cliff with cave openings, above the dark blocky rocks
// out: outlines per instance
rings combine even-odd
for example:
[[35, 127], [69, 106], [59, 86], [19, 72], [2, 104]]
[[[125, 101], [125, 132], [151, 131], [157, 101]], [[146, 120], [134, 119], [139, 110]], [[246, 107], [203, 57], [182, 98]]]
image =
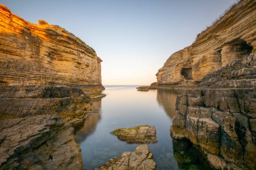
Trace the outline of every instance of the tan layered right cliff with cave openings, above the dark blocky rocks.
[[156, 74], [158, 85], [195, 86], [203, 77], [256, 48], [256, 1], [233, 5], [191, 46], [172, 54]]

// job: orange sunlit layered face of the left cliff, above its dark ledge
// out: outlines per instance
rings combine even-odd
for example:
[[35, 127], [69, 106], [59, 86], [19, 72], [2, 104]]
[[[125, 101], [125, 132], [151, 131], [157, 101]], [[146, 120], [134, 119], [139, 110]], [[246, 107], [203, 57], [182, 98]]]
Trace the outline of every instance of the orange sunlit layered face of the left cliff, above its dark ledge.
[[101, 85], [102, 60], [79, 38], [0, 5], [1, 85]]

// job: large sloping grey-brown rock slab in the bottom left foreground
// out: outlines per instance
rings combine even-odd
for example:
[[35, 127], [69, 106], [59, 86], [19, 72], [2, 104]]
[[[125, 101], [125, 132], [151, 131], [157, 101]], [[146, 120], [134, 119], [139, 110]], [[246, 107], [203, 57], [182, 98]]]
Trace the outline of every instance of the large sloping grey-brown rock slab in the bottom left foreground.
[[0, 169], [82, 169], [73, 128], [51, 115], [0, 122]]

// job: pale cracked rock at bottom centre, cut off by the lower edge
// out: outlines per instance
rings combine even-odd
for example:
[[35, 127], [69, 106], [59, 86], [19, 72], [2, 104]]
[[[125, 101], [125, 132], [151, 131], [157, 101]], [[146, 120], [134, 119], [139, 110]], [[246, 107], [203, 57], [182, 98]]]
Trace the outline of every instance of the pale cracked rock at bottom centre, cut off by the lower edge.
[[133, 152], [125, 152], [119, 158], [110, 159], [95, 170], [155, 170], [156, 163], [146, 144], [141, 144]]

